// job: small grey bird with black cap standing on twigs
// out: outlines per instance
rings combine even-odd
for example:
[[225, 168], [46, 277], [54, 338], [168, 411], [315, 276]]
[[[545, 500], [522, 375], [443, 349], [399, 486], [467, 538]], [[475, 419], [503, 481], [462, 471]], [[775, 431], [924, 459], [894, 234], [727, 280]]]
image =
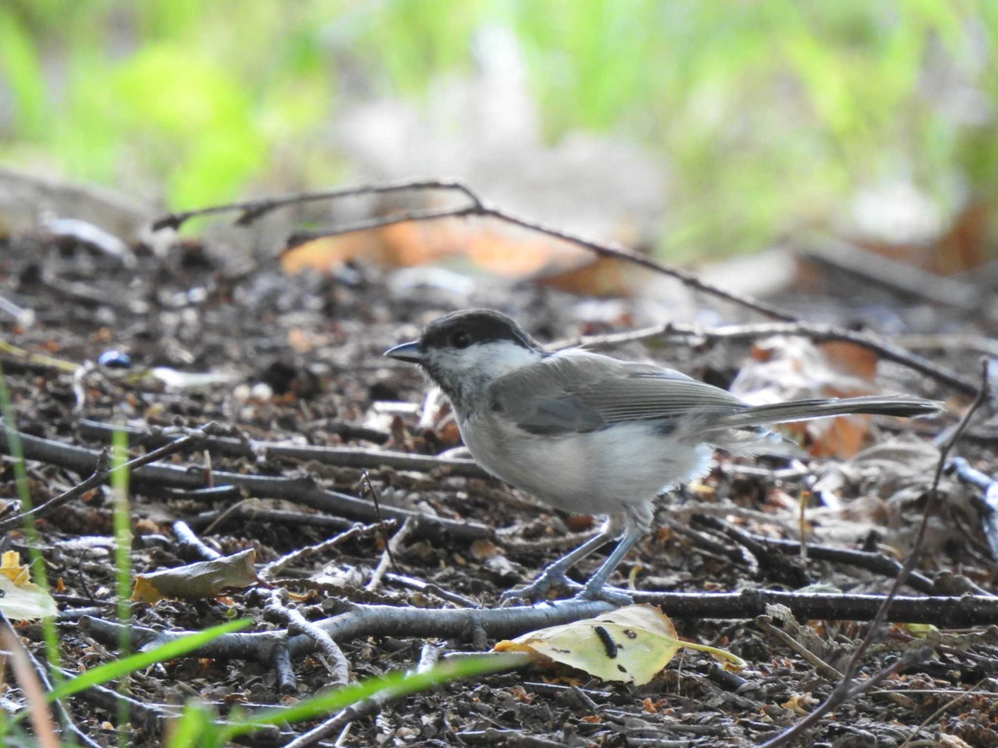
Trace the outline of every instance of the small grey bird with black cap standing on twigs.
[[[503, 600], [561, 584], [577, 596], [627, 604], [607, 579], [651, 528], [663, 491], [706, 476], [720, 448], [762, 452], [764, 427], [850, 413], [922, 416], [939, 403], [855, 397], [749, 405], [672, 369], [580, 348], [545, 351], [510, 317], [487, 309], [445, 314], [418, 341], [385, 351], [418, 364], [450, 399], [464, 444], [489, 473], [545, 504], [606, 515], [600, 535], [548, 565]], [[585, 585], [566, 578], [577, 561], [617, 540]]]

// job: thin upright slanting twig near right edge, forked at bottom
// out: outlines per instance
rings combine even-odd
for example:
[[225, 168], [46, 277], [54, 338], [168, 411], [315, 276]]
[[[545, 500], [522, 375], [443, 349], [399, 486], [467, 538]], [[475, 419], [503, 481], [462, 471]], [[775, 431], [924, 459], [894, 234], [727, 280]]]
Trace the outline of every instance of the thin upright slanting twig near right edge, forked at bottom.
[[939, 461], [936, 465], [935, 475], [932, 478], [932, 488], [929, 490], [928, 501], [925, 503], [925, 508], [922, 511], [922, 521], [918, 525], [918, 533], [916, 534], [915, 541], [912, 544], [911, 553], [908, 554], [908, 558], [905, 559], [901, 572], [894, 579], [894, 583], [891, 585], [890, 591], [887, 593], [887, 597], [880, 605], [880, 609], [877, 610], [873, 621], [869, 625], [869, 629], [866, 631], [866, 635], [863, 636], [862, 640], [859, 642], [859, 645], [856, 646], [855, 651], [852, 653], [852, 656], [849, 657], [849, 661], [845, 666], [845, 674], [824, 702], [819, 704], [810, 714], [794, 724], [792, 727], [779, 733], [779, 735], [771, 740], [766, 741], [763, 744], [764, 748], [777, 748], [777, 746], [785, 745], [796, 739], [816, 725], [817, 722], [828, 712], [833, 711], [841, 706], [845, 701], [854, 698], [863, 691], [871, 688], [873, 685], [883, 680], [883, 678], [887, 677], [891, 672], [897, 672], [899, 669], [896, 667], [898, 662], [902, 662], [906, 659], [910, 661], [911, 658], [915, 656], [913, 654], [911, 657], [905, 655], [891, 667], [880, 670], [880, 672], [858, 684], [853, 684], [853, 679], [856, 677], [859, 670], [859, 662], [862, 659], [863, 654], [865, 654], [870, 644], [873, 643], [874, 638], [880, 635], [880, 626], [887, 619], [891, 602], [897, 595], [897, 590], [904, 583], [908, 574], [911, 572], [911, 569], [915, 567], [915, 563], [921, 555], [922, 544], [925, 540], [925, 530], [928, 527], [929, 517], [935, 507], [939, 504], [939, 480], [942, 478], [943, 469], [946, 466], [946, 459], [949, 456], [950, 450], [953, 449], [954, 445], [959, 440], [960, 434], [963, 433], [963, 430], [967, 427], [967, 424], [970, 422], [970, 419], [973, 417], [977, 409], [984, 405], [991, 396], [988, 373], [988, 360], [984, 359], [981, 363], [981, 386], [977, 393], [977, 397], [974, 399], [974, 402], [971, 403], [970, 407], [967, 409], [967, 412], [963, 414], [963, 418], [960, 419], [960, 423], [953, 432], [953, 435], [939, 449]]

